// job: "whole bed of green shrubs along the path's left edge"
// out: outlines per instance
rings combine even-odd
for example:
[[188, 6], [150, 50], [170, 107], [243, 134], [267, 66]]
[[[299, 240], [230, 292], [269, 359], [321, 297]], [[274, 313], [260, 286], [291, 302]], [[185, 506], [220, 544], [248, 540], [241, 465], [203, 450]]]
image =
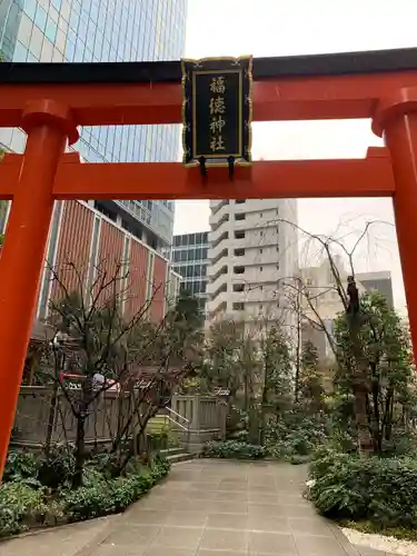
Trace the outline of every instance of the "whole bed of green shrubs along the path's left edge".
[[[66, 456], [57, 455], [56, 467], [69, 473], [72, 467], [62, 464]], [[39, 456], [19, 453], [9, 455], [8, 474], [16, 480], [9, 480], [0, 486], [0, 536], [20, 533], [30, 527], [57, 522], [77, 522], [90, 519], [107, 514], [122, 512], [132, 502], [147, 493], [158, 480], [165, 477], [170, 468], [169, 461], [161, 456], [152, 459], [151, 468], [133, 463], [131, 473], [116, 479], [107, 479], [93, 465], [86, 466], [85, 485], [71, 490], [62, 479], [61, 488], [52, 490], [41, 486], [37, 477]], [[58, 464], [58, 461], [60, 461]], [[11, 465], [16, 463], [14, 475]], [[62, 464], [62, 467], [60, 467]], [[30, 476], [33, 473], [34, 477]], [[49, 477], [54, 477], [53, 473]], [[56, 485], [56, 480], [52, 481]], [[62, 486], [63, 484], [63, 486]]]

